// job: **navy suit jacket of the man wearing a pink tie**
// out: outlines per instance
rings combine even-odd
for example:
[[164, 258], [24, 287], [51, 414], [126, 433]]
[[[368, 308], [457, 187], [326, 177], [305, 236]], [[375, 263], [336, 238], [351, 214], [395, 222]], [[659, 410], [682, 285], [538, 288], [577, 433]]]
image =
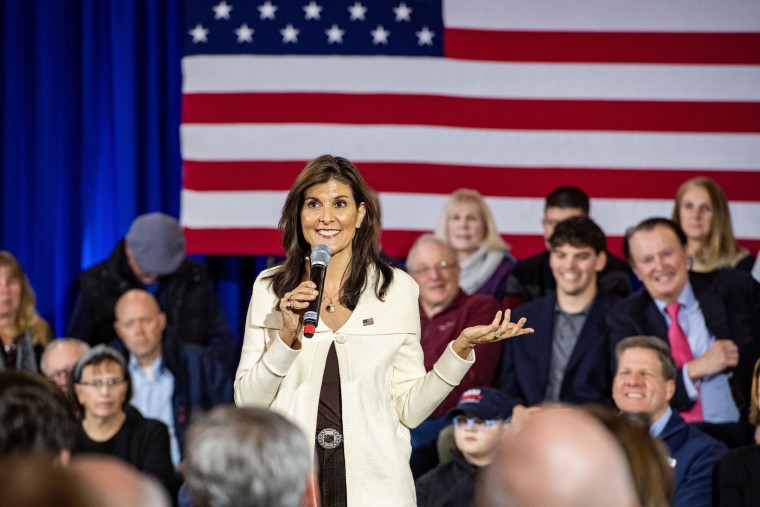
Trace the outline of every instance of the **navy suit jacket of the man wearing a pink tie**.
[[[739, 347], [739, 364], [732, 369], [731, 390], [741, 418], [746, 420], [752, 371], [760, 352], [760, 285], [749, 273], [735, 269], [689, 273], [689, 280], [710, 334], [717, 339], [733, 340]], [[659, 336], [668, 341], [665, 317], [645, 288], [617, 303], [608, 314], [607, 323], [613, 347], [634, 335]], [[681, 369], [670, 404], [679, 411], [694, 405], [686, 393]]]

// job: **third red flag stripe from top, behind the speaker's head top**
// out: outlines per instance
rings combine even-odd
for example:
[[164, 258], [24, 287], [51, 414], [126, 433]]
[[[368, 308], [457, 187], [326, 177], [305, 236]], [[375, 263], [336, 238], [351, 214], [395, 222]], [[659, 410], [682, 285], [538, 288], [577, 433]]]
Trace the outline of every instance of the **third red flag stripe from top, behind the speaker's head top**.
[[[290, 189], [305, 160], [184, 162], [183, 188], [199, 191]], [[760, 200], [760, 171], [482, 167], [357, 162], [367, 184], [380, 192], [449, 194], [466, 186], [483, 195], [543, 198], [560, 185], [583, 188], [594, 198], [672, 199], [686, 179], [704, 175], [732, 201]]]

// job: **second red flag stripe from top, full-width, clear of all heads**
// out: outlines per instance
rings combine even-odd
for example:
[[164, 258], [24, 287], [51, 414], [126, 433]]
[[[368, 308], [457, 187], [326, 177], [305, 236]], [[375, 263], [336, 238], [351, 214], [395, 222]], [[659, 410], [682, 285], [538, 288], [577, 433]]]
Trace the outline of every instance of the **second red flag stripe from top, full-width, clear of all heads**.
[[760, 132], [760, 103], [502, 100], [433, 95], [193, 93], [183, 123], [442, 125], [522, 130]]

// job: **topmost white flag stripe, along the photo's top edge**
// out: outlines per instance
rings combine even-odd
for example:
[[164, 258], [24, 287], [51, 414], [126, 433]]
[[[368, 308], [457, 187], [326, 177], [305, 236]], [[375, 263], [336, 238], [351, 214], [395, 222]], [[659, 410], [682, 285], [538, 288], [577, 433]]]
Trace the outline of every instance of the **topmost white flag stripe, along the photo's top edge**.
[[756, 0], [454, 0], [449, 27], [554, 31], [758, 31]]

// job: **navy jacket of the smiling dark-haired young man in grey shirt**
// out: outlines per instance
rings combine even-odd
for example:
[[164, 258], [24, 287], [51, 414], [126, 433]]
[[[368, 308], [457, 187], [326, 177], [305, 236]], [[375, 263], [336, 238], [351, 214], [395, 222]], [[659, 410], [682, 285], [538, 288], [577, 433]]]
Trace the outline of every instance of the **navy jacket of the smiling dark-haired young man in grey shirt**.
[[[561, 401], [612, 403], [613, 359], [605, 315], [615, 301], [614, 296], [603, 291], [599, 291], [594, 299], [567, 363], [560, 388]], [[557, 297], [551, 294], [519, 306], [512, 313], [513, 321], [526, 317], [535, 332], [504, 342], [497, 386], [528, 405], [544, 401], [552, 358], [556, 304]]]

